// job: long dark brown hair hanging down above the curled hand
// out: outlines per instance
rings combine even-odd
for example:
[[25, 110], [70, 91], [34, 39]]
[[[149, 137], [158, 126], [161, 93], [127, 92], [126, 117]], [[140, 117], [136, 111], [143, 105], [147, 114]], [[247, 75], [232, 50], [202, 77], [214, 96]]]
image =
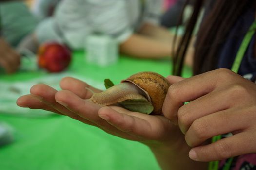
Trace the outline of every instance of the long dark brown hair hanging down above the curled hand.
[[[203, 0], [195, 0], [194, 12], [198, 14], [201, 9]], [[200, 74], [209, 70], [213, 70], [217, 66], [219, 49], [226, 40], [226, 37], [235, 24], [238, 17], [247, 9], [248, 4], [252, 0], [215, 0], [213, 8], [209, 14], [203, 19], [201, 27], [197, 35], [195, 44], [195, 55], [193, 73]], [[200, 8], [199, 8], [200, 6]], [[191, 25], [186, 26], [186, 33], [183, 36], [185, 42], [181, 41], [174, 59], [175, 75], [181, 75], [183, 61], [187, 48], [182, 49], [190, 39], [186, 39], [186, 34], [191, 34], [195, 27], [197, 16], [190, 18]], [[188, 32], [188, 33], [187, 33]], [[182, 61], [178, 63], [177, 61]]]

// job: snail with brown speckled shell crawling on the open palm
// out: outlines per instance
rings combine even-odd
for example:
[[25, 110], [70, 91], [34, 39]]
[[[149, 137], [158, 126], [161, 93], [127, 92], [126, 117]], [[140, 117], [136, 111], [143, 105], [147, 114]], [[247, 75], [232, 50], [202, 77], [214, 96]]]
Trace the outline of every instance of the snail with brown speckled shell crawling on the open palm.
[[130, 111], [161, 114], [170, 84], [155, 72], [139, 72], [89, 99], [100, 105], [118, 104]]

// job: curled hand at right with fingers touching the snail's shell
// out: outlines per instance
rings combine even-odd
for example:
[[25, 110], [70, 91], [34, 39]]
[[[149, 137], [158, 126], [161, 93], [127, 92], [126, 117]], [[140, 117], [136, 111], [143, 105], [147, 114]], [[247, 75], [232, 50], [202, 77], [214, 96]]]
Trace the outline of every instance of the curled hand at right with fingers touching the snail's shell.
[[[186, 142], [194, 147], [189, 153], [193, 160], [256, 153], [256, 84], [230, 70], [217, 69], [171, 85], [163, 113], [178, 123]], [[202, 144], [229, 132], [233, 136]]]

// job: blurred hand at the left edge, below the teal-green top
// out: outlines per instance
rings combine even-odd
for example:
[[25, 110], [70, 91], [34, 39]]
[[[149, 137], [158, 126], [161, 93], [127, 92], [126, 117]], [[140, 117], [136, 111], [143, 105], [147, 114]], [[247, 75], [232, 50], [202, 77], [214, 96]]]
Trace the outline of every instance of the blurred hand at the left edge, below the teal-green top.
[[20, 67], [20, 55], [0, 38], [0, 67], [8, 74], [14, 73]]

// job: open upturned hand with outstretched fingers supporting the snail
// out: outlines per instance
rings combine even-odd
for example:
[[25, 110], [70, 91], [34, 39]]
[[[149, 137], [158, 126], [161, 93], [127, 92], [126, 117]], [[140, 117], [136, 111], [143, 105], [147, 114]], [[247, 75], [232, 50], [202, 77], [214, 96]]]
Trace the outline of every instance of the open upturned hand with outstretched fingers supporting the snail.
[[184, 141], [179, 128], [163, 116], [131, 112], [117, 106], [102, 107], [89, 102], [86, 99], [92, 93], [86, 87], [94, 92], [100, 90], [74, 78], [62, 79], [60, 86], [62, 91], [56, 91], [47, 85], [34, 85], [30, 90], [31, 94], [20, 97], [17, 104], [66, 115], [101, 128], [109, 134], [147, 145], [163, 143], [171, 146], [180, 138]]

